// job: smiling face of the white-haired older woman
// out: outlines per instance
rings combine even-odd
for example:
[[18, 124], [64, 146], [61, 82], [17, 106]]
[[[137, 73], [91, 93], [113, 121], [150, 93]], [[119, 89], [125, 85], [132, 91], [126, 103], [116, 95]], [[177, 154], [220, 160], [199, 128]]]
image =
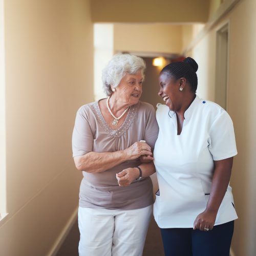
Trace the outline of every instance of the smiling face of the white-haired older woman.
[[142, 94], [143, 76], [141, 71], [136, 74], [126, 74], [116, 87], [116, 95], [125, 104], [134, 105], [138, 103]]

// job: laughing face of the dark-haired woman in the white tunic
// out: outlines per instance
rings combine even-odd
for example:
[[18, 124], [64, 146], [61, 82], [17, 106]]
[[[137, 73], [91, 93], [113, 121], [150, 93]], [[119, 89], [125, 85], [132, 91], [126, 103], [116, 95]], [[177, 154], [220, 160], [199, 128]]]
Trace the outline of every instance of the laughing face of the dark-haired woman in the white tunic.
[[159, 85], [158, 95], [165, 101], [170, 110], [179, 111], [182, 103], [182, 93], [179, 90], [180, 79], [175, 79], [163, 72], [159, 77]]

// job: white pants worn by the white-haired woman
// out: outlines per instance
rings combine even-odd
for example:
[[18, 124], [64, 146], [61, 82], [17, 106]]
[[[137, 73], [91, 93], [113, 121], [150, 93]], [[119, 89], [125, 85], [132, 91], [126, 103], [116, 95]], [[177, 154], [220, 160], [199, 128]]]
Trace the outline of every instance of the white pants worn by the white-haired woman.
[[79, 207], [79, 256], [141, 256], [152, 209]]

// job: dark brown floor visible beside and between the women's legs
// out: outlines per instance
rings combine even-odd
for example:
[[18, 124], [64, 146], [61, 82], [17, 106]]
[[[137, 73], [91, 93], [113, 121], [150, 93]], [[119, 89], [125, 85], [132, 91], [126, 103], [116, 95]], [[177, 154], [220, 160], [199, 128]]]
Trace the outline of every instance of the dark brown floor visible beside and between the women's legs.
[[[79, 230], [76, 222], [70, 230], [66, 240], [63, 242], [56, 256], [78, 256], [78, 242]], [[153, 217], [150, 223], [150, 227], [148, 228], [143, 256], [164, 256], [160, 229], [158, 228]]]

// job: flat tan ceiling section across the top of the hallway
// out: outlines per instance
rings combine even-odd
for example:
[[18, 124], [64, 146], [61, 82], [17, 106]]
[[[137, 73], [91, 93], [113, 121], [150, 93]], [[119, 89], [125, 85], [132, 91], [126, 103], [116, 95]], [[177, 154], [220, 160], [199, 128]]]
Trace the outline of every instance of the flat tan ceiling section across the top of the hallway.
[[93, 22], [206, 22], [211, 0], [91, 0]]

